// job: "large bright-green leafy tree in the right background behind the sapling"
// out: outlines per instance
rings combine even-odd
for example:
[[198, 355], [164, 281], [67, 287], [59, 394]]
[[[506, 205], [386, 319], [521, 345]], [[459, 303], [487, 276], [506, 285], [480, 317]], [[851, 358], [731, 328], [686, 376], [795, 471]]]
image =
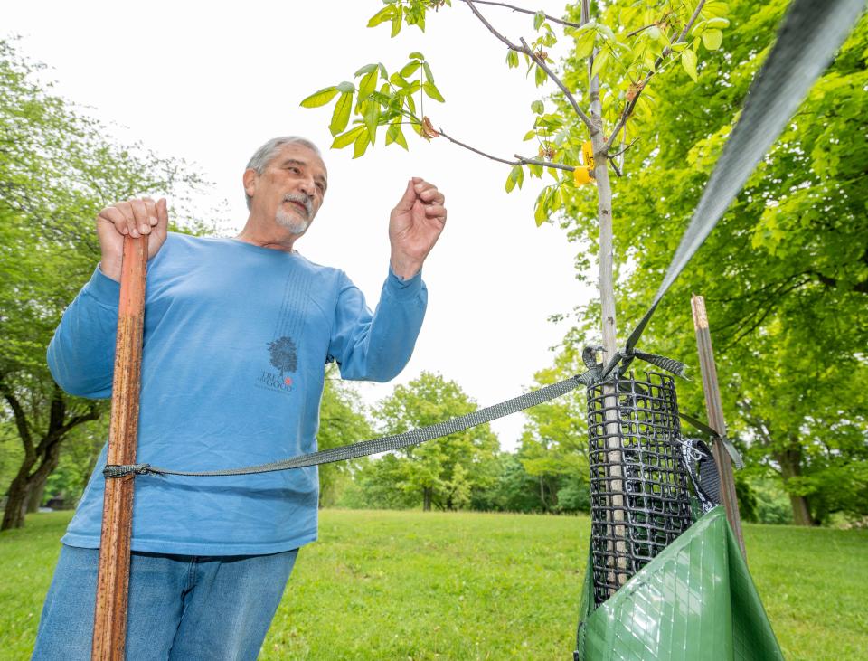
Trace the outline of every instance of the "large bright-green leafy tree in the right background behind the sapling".
[[[709, 55], [695, 86], [658, 90], [618, 192], [641, 210], [615, 219], [618, 255], [631, 266], [618, 314], [635, 318], [652, 297], [787, 5], [733, 0], [727, 52]], [[731, 432], [750, 441], [754, 471], [782, 481], [797, 524], [868, 514], [866, 49], [863, 15], [646, 334], [659, 353], [690, 355], [686, 301], [692, 291], [706, 297]], [[565, 218], [580, 238], [595, 210], [576, 196]], [[596, 324], [579, 314], [576, 343]], [[679, 397], [702, 411], [698, 383]]]

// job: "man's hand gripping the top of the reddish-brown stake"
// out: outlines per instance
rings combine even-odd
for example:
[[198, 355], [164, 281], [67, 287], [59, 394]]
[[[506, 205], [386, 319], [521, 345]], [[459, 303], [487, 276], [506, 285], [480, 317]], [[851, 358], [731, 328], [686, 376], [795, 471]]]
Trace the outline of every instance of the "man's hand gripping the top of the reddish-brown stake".
[[147, 237], [147, 259], [156, 255], [165, 242], [169, 214], [165, 198], [154, 202], [150, 197], [127, 200], [107, 206], [97, 215], [97, 236], [102, 258], [99, 269], [110, 279], [120, 281], [120, 262], [124, 254], [124, 237]]

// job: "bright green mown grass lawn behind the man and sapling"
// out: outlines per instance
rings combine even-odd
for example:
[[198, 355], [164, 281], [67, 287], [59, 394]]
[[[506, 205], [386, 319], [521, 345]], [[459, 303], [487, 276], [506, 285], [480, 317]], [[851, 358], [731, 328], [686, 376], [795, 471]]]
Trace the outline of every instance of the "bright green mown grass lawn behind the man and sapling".
[[[68, 513], [0, 535], [0, 658], [29, 658]], [[262, 659], [568, 659], [587, 518], [321, 516]], [[790, 661], [864, 658], [868, 531], [746, 526], [750, 570]]]

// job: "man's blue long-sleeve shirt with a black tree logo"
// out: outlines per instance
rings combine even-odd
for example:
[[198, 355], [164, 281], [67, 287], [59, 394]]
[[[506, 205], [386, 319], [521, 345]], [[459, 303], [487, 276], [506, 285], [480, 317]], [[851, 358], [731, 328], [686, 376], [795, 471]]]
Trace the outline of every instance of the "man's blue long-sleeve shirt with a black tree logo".
[[[97, 269], [48, 349], [72, 394], [111, 395], [118, 282]], [[316, 450], [325, 363], [388, 381], [425, 314], [417, 275], [391, 271], [372, 314], [343, 271], [297, 253], [170, 233], [148, 263], [137, 461], [180, 470], [266, 463]], [[99, 547], [99, 457], [62, 542]], [[316, 467], [238, 477], [139, 476], [134, 551], [248, 555], [316, 539]]]

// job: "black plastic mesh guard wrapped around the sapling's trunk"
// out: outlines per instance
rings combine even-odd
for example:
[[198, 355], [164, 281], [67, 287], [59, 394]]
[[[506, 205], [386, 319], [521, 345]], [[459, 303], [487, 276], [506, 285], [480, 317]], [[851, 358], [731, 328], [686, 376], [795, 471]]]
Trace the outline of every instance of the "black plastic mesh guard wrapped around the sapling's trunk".
[[594, 599], [609, 599], [691, 524], [672, 377], [588, 389]]

